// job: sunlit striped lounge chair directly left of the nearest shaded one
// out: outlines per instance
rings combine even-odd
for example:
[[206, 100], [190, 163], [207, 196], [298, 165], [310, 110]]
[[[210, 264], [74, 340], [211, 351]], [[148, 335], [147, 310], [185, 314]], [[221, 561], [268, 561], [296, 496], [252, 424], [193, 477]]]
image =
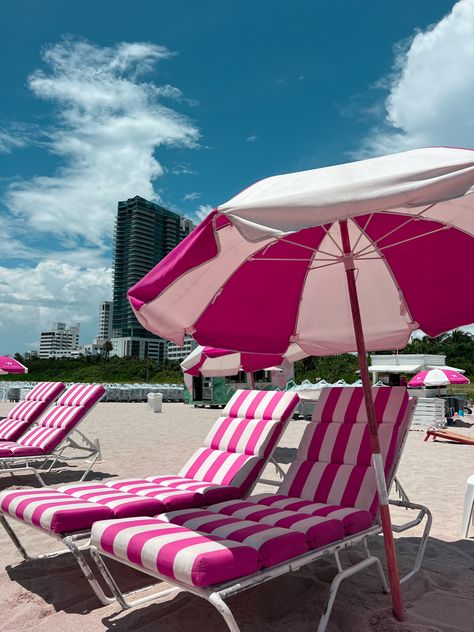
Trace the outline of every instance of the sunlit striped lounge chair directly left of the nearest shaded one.
[[[0, 523], [25, 559], [32, 558], [5, 516], [60, 540], [84, 570], [87, 562], [75, 543], [89, 539], [97, 520], [154, 516], [248, 496], [298, 403], [295, 393], [239, 390], [178, 476], [6, 490], [0, 493]], [[113, 601], [90, 569], [86, 576], [103, 603]]]

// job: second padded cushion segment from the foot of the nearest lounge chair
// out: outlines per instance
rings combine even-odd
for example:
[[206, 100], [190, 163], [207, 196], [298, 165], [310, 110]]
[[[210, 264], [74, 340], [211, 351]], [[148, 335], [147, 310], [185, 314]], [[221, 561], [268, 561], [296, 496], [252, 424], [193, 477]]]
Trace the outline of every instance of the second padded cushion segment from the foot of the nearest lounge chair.
[[217, 536], [251, 546], [262, 556], [265, 568], [275, 566], [275, 564], [285, 562], [308, 551], [306, 537], [299, 531], [253, 520], [242, 520], [208, 509], [171, 511], [162, 514], [159, 518], [200, 534]]

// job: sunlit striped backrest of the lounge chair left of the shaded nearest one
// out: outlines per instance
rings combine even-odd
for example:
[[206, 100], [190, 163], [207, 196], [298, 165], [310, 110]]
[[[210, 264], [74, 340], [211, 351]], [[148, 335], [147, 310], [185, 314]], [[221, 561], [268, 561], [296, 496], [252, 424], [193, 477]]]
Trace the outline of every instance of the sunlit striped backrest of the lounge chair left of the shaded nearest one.
[[219, 485], [253, 485], [299, 401], [296, 393], [238, 390], [179, 475]]

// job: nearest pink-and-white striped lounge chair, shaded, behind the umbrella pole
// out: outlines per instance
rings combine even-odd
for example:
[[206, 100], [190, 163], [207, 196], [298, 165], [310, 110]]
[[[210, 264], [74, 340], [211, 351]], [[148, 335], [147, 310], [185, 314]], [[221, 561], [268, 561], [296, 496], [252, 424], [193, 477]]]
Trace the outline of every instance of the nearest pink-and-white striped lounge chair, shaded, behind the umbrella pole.
[[[413, 403], [404, 388], [374, 388], [373, 393], [390, 484]], [[212, 603], [232, 632], [239, 627], [225, 603], [227, 597], [332, 554], [338, 572], [318, 628], [322, 632], [346, 577], [374, 564], [387, 590], [380, 561], [367, 546], [368, 536], [380, 533], [377, 511], [363, 390], [331, 388], [322, 391], [277, 494], [257, 494], [155, 518], [100, 521], [92, 527], [91, 553], [123, 607], [186, 590]], [[361, 543], [365, 558], [343, 570], [339, 551]], [[172, 588], [130, 602], [104, 557], [164, 580]]]

